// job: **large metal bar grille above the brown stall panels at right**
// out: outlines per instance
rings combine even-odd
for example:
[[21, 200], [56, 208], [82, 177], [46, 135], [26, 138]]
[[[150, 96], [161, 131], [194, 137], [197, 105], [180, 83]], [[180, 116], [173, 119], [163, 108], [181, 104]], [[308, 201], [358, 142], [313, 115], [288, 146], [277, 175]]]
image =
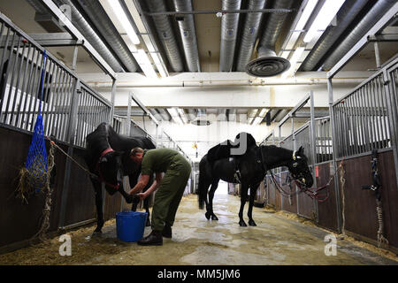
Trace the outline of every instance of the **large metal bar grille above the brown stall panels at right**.
[[[373, 75], [347, 96], [333, 103], [339, 136], [336, 157], [350, 157], [372, 149], [391, 147], [387, 100], [383, 73]], [[329, 147], [331, 149], [331, 147]]]

